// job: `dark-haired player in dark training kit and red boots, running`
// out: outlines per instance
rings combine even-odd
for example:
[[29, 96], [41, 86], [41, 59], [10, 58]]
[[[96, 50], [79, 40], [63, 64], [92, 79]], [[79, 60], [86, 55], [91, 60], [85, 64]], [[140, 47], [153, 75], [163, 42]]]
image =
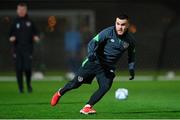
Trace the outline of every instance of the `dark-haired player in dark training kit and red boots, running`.
[[74, 79], [54, 94], [51, 100], [52, 106], [55, 106], [66, 92], [78, 88], [83, 83], [91, 84], [96, 77], [99, 89], [80, 110], [82, 114], [96, 113], [92, 107], [111, 88], [115, 77], [115, 64], [126, 50], [128, 51], [129, 80], [134, 79], [135, 40], [128, 32], [128, 27], [129, 17], [126, 14], [121, 14], [116, 17], [115, 26], [104, 29], [89, 42], [87, 58]]

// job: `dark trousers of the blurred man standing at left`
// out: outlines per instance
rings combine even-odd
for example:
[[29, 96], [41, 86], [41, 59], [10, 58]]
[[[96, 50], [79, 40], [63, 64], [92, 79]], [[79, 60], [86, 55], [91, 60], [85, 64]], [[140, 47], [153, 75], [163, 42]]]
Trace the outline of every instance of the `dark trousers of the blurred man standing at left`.
[[16, 78], [20, 92], [24, 91], [23, 73], [25, 73], [28, 92], [32, 92], [31, 74], [32, 74], [32, 55], [26, 52], [14, 54], [16, 65]]

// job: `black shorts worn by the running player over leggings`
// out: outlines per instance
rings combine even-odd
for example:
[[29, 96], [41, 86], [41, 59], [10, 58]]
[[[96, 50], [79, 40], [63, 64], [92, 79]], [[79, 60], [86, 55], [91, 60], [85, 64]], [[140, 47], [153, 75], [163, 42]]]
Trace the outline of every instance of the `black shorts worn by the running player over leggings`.
[[95, 77], [97, 77], [98, 80], [108, 79], [108, 81], [112, 82], [115, 77], [114, 70], [99, 63], [87, 60], [79, 68], [74, 80], [77, 80], [77, 82], [80, 83], [91, 84]]

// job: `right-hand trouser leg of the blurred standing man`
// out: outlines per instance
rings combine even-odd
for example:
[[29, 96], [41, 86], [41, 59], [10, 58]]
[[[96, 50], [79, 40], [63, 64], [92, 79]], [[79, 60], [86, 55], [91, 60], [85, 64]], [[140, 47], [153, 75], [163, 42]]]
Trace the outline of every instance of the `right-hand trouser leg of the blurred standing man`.
[[32, 92], [31, 76], [32, 76], [32, 55], [24, 54], [24, 68], [26, 75], [27, 90], [29, 93]]

